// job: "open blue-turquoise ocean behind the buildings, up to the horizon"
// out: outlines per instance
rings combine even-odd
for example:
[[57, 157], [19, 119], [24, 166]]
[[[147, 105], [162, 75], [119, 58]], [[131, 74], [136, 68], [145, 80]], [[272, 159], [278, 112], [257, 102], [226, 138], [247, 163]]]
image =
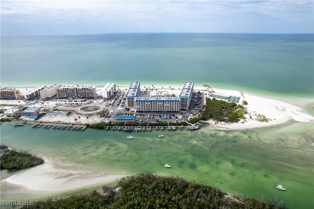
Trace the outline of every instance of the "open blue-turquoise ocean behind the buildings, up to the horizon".
[[[313, 97], [313, 34], [1, 36], [1, 86], [183, 85]], [[14, 76], [13, 76], [14, 75]]]

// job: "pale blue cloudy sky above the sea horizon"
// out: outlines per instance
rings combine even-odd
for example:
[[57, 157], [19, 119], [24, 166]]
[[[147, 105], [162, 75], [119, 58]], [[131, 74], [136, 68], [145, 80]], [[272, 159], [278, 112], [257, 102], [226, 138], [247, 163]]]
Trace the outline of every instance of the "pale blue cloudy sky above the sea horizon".
[[1, 35], [313, 33], [313, 0], [1, 0]]

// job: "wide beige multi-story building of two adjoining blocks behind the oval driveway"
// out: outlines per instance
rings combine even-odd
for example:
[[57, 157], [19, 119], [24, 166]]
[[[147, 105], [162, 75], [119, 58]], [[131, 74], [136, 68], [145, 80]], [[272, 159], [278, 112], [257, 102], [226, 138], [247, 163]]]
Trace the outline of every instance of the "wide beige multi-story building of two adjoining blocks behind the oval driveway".
[[97, 97], [96, 87], [92, 85], [73, 86], [65, 85], [57, 89], [59, 99], [86, 98], [95, 99]]

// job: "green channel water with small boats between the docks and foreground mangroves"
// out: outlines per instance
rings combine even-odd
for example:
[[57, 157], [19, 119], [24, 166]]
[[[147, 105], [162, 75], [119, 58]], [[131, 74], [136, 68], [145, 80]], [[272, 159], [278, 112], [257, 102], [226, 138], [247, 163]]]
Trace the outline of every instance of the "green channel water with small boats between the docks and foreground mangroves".
[[[158, 134], [164, 134], [158, 138]], [[126, 132], [13, 128], [1, 123], [1, 143], [37, 156], [127, 174], [181, 176], [251, 198], [314, 207], [314, 126], [217, 131]], [[169, 163], [172, 168], [164, 169]], [[275, 188], [282, 184], [287, 191]]]

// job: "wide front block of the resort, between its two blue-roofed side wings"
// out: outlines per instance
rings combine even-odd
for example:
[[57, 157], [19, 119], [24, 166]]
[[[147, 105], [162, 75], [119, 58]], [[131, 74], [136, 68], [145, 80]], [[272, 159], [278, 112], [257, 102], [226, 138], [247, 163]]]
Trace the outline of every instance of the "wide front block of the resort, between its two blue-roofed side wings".
[[136, 112], [179, 112], [179, 97], [137, 97]]

